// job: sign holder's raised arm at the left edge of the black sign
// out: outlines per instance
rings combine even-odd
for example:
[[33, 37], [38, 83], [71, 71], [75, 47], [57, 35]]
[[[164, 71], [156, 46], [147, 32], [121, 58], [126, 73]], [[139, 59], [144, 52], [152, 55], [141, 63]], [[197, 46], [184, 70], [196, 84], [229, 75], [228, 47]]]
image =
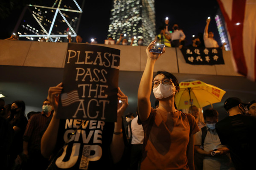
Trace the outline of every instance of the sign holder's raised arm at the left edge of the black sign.
[[57, 108], [58, 108], [58, 98], [62, 91], [62, 82], [55, 87], [50, 87], [48, 91], [47, 99], [51, 103], [54, 113], [52, 115], [52, 120], [47, 127], [47, 130], [44, 132], [44, 135], [41, 139], [41, 154], [48, 158], [51, 156], [58, 136], [58, 127], [60, 119], [56, 118]]

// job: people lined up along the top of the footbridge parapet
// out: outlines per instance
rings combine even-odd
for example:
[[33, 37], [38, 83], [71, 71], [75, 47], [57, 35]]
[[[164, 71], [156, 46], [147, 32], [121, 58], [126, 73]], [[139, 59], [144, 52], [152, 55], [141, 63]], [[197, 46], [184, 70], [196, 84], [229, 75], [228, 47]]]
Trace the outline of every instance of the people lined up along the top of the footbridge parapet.
[[[207, 19], [206, 21], [206, 26], [204, 28], [204, 34], [199, 34], [196, 37], [192, 38], [192, 44], [188, 45], [189, 47], [206, 47], [206, 48], [218, 48], [218, 42], [214, 40], [214, 34], [212, 31], [208, 32], [208, 27], [210, 23], [210, 18]], [[155, 41], [161, 44], [166, 45], [166, 47], [178, 47], [178, 48], [183, 48], [186, 43], [186, 35], [183, 33], [183, 30], [179, 28], [178, 24], [175, 23], [172, 26], [172, 31], [169, 30], [169, 19], [166, 18], [164, 23], [159, 27], [159, 34], [156, 35]], [[131, 37], [129, 40], [128, 37], [126, 37], [126, 34], [120, 34], [120, 37], [117, 40], [113, 40], [113, 37], [108, 37], [108, 41], [105, 40], [105, 44], [116, 44], [116, 45], [134, 45], [134, 40], [136, 37]], [[67, 35], [68, 42], [72, 42], [73, 39], [70, 34]], [[7, 38], [5, 40], [19, 40], [19, 35], [18, 34], [12, 34], [10, 38]], [[81, 43], [83, 42], [83, 38], [81, 35], [77, 35], [75, 37], [75, 42]], [[46, 42], [48, 41], [47, 38], [42, 37], [40, 39], [40, 42]], [[58, 42], [58, 41], [57, 41]], [[144, 44], [143, 38], [139, 38], [137, 40], [137, 45], [146, 45]], [[89, 43], [89, 42], [85, 42]], [[96, 38], [91, 40], [91, 44], [97, 44]], [[224, 42], [221, 45], [221, 48], [226, 45]]]

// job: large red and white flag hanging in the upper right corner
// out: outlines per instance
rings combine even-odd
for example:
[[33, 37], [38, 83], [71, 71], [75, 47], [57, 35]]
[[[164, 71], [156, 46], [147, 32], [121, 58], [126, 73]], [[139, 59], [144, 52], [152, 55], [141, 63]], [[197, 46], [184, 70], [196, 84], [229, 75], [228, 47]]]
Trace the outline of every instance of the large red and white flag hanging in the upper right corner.
[[236, 71], [256, 81], [256, 0], [218, 0]]

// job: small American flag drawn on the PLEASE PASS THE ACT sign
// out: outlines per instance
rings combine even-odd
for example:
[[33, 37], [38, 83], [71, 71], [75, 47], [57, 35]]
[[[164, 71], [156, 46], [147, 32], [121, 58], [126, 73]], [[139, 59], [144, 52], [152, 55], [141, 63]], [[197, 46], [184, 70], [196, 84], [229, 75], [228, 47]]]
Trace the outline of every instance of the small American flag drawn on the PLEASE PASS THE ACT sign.
[[62, 106], [69, 106], [74, 102], [79, 102], [78, 91], [73, 90], [68, 93], [61, 94]]

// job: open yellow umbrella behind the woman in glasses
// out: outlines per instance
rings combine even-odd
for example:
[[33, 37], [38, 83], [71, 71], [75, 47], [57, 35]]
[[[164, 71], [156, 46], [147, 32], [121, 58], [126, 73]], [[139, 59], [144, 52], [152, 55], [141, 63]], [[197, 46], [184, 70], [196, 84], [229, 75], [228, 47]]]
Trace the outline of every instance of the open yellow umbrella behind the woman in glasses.
[[186, 109], [191, 105], [198, 108], [221, 102], [226, 91], [202, 81], [180, 82], [180, 91], [175, 95], [178, 109]]

